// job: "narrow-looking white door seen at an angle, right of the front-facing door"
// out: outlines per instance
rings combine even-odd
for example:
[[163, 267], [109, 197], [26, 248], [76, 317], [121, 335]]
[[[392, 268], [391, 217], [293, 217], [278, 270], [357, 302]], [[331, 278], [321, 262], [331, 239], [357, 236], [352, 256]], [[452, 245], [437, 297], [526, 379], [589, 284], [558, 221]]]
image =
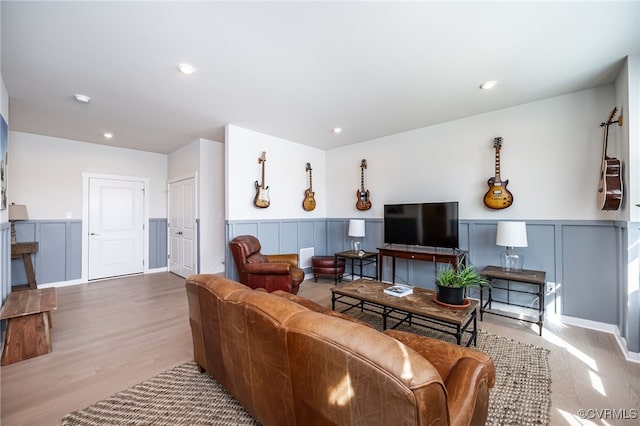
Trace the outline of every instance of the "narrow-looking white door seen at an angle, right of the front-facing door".
[[169, 271], [185, 278], [197, 272], [195, 194], [194, 178], [169, 184]]

